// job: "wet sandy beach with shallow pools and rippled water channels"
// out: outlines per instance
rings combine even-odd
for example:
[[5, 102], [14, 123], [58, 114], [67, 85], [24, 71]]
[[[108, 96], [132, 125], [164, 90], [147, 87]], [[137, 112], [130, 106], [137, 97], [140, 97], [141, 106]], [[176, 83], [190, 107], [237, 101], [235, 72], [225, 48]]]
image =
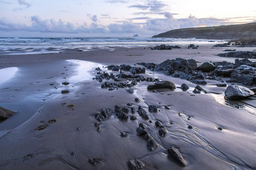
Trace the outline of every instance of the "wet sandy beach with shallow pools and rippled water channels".
[[[217, 87], [220, 82], [213, 79], [200, 85], [206, 94], [195, 94], [197, 84], [150, 69], [140, 75], [176, 87], [186, 83], [189, 89], [147, 91], [154, 82], [142, 81], [131, 94], [127, 87], [101, 88], [113, 79], [93, 79], [99, 71], [118, 75], [119, 71], [108, 70], [109, 65], [142, 68], [137, 63], [159, 64], [175, 58], [195, 59], [197, 66], [209, 61], [234, 63], [236, 58], [217, 56], [225, 49], [255, 50], [183, 45], [172, 50], [67, 49], [56, 54], [0, 56], [1, 70], [14, 67], [13, 75], [0, 82], [0, 107], [16, 111], [0, 124], [0, 169], [132, 169], [131, 160], [139, 160], [144, 169], [256, 169], [255, 95], [225, 100], [226, 87]], [[156, 112], [148, 111], [150, 105], [156, 106]], [[118, 108], [129, 110], [127, 120], [116, 116]], [[148, 120], [137, 111], [132, 113], [132, 108], [143, 108]], [[98, 121], [102, 109], [109, 115]], [[133, 116], [137, 119], [131, 120]], [[168, 156], [171, 146], [187, 161], [185, 167]]]

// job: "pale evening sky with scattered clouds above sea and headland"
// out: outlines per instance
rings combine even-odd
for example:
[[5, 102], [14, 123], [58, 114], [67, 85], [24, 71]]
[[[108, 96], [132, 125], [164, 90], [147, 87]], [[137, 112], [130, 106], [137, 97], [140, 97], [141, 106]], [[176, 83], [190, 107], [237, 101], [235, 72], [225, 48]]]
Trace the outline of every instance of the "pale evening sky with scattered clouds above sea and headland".
[[0, 37], [153, 36], [252, 22], [255, 0], [0, 0]]

